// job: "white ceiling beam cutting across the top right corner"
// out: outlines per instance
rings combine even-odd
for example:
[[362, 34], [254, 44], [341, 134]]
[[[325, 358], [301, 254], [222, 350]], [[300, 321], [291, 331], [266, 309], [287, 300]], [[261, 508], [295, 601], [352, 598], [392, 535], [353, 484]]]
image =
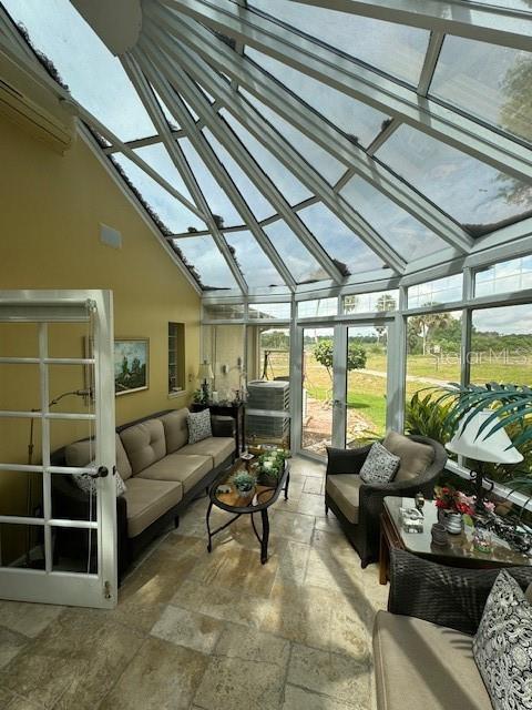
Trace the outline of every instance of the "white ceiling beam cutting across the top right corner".
[[[491, 44], [532, 51], [530, 12], [473, 0], [295, 0], [329, 10], [351, 12], [387, 22], [457, 34]], [[304, 11], [304, 10], [303, 10]]]

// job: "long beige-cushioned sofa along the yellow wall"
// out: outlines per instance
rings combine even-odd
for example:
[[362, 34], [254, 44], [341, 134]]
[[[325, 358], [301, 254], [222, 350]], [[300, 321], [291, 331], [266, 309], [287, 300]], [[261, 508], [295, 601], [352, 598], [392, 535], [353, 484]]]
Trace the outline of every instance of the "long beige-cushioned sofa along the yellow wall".
[[[116, 499], [121, 572], [168, 524], [177, 527], [180, 511], [235, 457], [233, 419], [213, 416], [213, 436], [188, 444], [187, 415], [186, 408], [160, 412], [116, 429], [116, 470], [126, 486]], [[74, 442], [52, 459], [85, 466], [92, 449], [89, 439]], [[86, 517], [88, 496], [70, 476], [57, 477], [54, 496], [64, 517]]]

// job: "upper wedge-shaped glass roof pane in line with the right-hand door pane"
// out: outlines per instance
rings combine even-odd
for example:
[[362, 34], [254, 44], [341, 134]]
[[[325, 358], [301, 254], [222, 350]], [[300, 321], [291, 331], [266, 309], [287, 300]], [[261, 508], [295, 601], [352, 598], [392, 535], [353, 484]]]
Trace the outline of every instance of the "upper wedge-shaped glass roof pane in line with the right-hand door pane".
[[252, 156], [257, 161], [258, 165], [264, 170], [277, 190], [283, 193], [290, 204], [297, 204], [298, 202], [303, 202], [304, 200], [308, 200], [308, 197], [313, 196], [313, 193], [307, 190], [307, 187], [305, 187], [305, 185], [301, 184], [280, 161], [266, 150], [264, 145], [262, 145], [260, 142], [242, 125], [242, 123], [236, 121], [231, 113], [225, 109], [222, 109], [219, 114], [225, 119], [225, 121], [227, 121]]

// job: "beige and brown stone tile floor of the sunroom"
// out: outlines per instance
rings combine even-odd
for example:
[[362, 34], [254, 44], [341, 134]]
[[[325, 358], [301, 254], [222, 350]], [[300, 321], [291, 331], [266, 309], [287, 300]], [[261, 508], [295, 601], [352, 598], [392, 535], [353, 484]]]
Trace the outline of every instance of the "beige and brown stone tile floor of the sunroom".
[[293, 459], [265, 566], [248, 516], [207, 554], [200, 499], [115, 610], [0, 601], [0, 708], [371, 710], [371, 627], [388, 589], [325, 516], [324, 480], [323, 466]]

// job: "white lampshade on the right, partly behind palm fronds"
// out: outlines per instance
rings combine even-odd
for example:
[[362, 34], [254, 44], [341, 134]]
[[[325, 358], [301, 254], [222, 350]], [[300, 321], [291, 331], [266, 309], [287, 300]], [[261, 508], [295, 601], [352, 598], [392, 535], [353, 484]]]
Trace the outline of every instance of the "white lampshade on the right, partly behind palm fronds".
[[488, 436], [497, 424], [495, 419], [478, 436], [480, 427], [492, 414], [493, 412], [490, 410], [479, 412], [464, 427], [463, 424], [469, 416], [466, 414], [459, 424], [457, 433], [446, 445], [446, 448], [452, 454], [459, 454], [477, 462], [490, 464], [519, 464], [519, 462], [522, 462], [522, 455], [512, 445], [504, 428], [500, 428], [491, 436]]

